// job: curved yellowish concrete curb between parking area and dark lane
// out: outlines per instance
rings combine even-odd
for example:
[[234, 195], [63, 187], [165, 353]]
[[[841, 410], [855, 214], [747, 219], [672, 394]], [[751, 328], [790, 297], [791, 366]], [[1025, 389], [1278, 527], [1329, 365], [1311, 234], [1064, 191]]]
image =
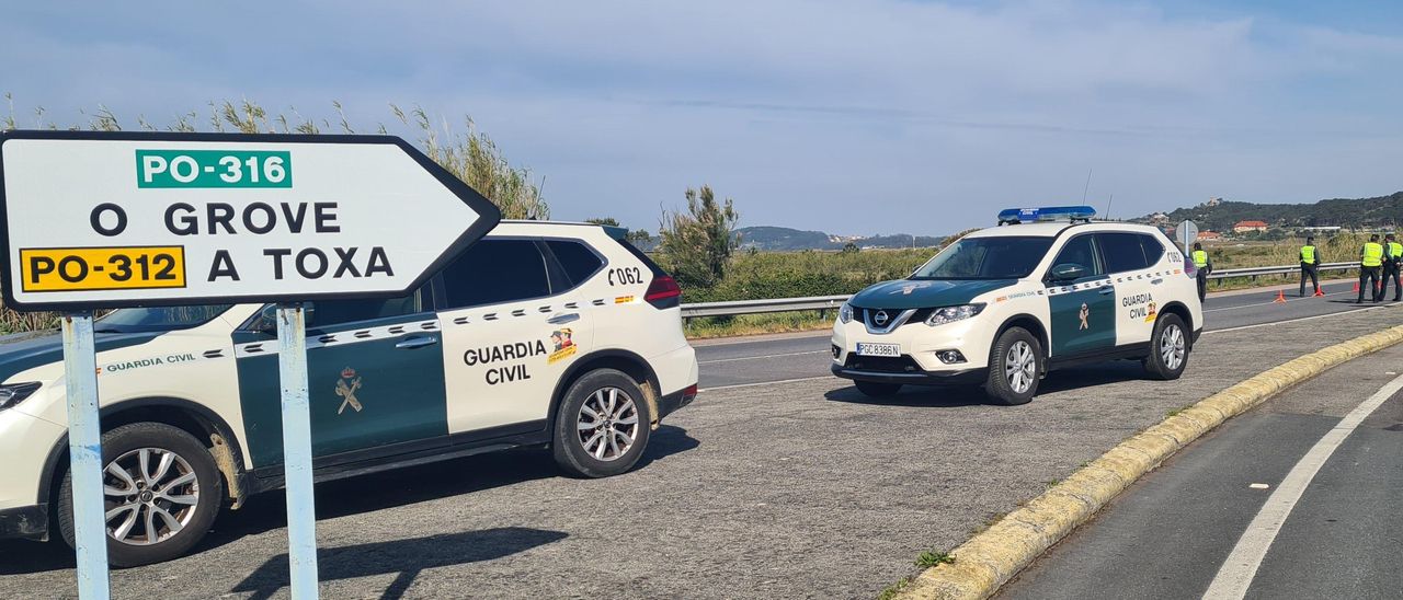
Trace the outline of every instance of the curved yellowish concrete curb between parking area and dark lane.
[[1403, 325], [1312, 352], [1204, 398], [1101, 454], [905, 585], [898, 599], [986, 599], [1141, 475], [1198, 436], [1301, 381], [1403, 342]]

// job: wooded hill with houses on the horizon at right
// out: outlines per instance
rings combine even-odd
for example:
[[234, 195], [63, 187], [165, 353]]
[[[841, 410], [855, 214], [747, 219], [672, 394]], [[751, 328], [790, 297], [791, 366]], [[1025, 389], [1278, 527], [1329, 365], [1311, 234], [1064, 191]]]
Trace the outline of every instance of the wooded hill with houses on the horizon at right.
[[1256, 202], [1212, 200], [1170, 213], [1146, 214], [1143, 223], [1176, 224], [1186, 219], [1202, 231], [1230, 231], [1244, 220], [1267, 221], [1271, 227], [1390, 227], [1403, 223], [1403, 192], [1378, 198], [1329, 199], [1309, 205], [1260, 205]]

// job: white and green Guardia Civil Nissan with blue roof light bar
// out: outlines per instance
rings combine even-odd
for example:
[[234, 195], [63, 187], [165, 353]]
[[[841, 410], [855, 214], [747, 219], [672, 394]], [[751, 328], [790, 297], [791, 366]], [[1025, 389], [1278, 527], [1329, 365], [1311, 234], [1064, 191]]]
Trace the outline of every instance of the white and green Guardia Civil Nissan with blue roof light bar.
[[1009, 209], [911, 278], [853, 296], [832, 371], [873, 397], [906, 384], [982, 384], [1024, 404], [1051, 369], [1136, 359], [1177, 379], [1202, 332], [1193, 262], [1149, 226], [1089, 206]]

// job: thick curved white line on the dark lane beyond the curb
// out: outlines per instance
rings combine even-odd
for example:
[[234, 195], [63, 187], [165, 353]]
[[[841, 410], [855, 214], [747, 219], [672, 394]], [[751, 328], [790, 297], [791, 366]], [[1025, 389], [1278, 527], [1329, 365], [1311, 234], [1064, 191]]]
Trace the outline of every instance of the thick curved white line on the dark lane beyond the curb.
[[1271, 492], [1267, 503], [1257, 512], [1257, 517], [1247, 526], [1247, 531], [1237, 538], [1237, 545], [1233, 547], [1232, 554], [1218, 569], [1218, 576], [1204, 593], [1205, 600], [1240, 600], [1247, 594], [1251, 580], [1257, 576], [1257, 568], [1261, 566], [1261, 559], [1267, 557], [1271, 543], [1277, 538], [1287, 517], [1291, 516], [1291, 509], [1296, 506], [1301, 495], [1310, 485], [1310, 479], [1330, 460], [1345, 437], [1350, 437], [1350, 433], [1354, 433], [1371, 412], [1397, 394], [1399, 390], [1403, 390], [1403, 376], [1393, 379], [1362, 404], [1354, 407], [1291, 468], [1285, 479], [1277, 485], [1277, 491]]

